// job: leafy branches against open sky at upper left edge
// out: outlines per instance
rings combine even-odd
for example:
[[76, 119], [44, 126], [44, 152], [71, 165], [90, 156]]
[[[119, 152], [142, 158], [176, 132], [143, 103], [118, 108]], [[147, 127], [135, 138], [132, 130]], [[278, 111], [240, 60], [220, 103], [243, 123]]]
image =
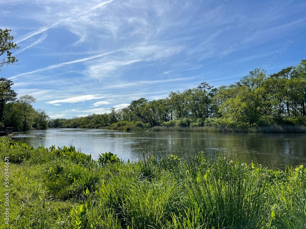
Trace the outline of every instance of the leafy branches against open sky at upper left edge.
[[4, 59], [0, 59], [0, 72], [2, 66], [13, 65], [18, 61], [10, 52], [10, 50], [19, 49], [17, 44], [12, 42], [14, 37], [10, 35], [10, 32], [10, 29], [0, 29], [0, 56], [5, 55]]

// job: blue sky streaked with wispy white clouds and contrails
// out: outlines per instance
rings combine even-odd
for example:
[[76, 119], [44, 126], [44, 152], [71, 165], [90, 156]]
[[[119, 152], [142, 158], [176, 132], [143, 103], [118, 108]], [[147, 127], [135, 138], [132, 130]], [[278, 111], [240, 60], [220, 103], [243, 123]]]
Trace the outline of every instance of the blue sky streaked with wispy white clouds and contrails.
[[18, 96], [51, 118], [102, 114], [208, 82], [229, 85], [306, 59], [306, 2], [0, 0]]

